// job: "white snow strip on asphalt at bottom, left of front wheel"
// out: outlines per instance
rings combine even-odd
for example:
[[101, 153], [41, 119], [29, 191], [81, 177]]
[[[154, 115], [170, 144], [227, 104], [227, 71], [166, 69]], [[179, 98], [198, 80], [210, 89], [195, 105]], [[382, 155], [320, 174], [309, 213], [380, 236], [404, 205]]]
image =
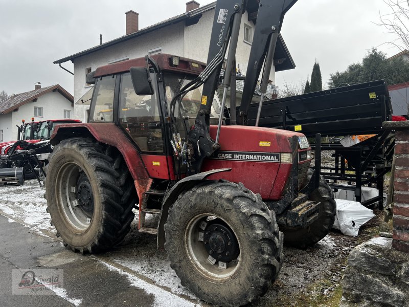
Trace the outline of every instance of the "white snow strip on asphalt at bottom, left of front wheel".
[[155, 286], [154, 284], [150, 284], [145, 280], [142, 280], [132, 274], [124, 272], [116, 267], [113, 267], [107, 264], [104, 261], [99, 260], [102, 264], [104, 264], [109, 270], [117, 271], [122, 275], [125, 275], [128, 278], [128, 281], [131, 283], [131, 286], [137, 287], [139, 289], [143, 289], [148, 294], [153, 294], [155, 297], [154, 305], [157, 307], [168, 307], [168, 306], [180, 306], [180, 307], [194, 307], [194, 306], [201, 306], [198, 303], [192, 303], [184, 298], [178, 297], [171, 292], [165, 291], [164, 289]]

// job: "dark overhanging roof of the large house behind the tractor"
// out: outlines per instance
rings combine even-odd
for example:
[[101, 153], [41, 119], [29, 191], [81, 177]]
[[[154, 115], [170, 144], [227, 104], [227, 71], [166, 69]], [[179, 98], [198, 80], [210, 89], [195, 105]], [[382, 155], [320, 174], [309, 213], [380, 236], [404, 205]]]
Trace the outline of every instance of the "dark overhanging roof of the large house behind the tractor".
[[[189, 22], [191, 24], [195, 24], [200, 19], [201, 14], [203, 12], [210, 11], [210, 10], [214, 9], [215, 7], [216, 7], [216, 2], [213, 2], [211, 4], [202, 6], [200, 8], [194, 9], [192, 11], [189, 11], [189, 12], [186, 12], [186, 13], [171, 17], [169, 19], [163, 20], [160, 23], [156, 23], [156, 24], [154, 24], [152, 26], [143, 28], [143, 29], [139, 30], [138, 32], [134, 32], [134, 33], [131, 33], [131, 34], [128, 34], [128, 35], [118, 37], [116, 39], [112, 39], [110, 41], [102, 43], [101, 45], [98, 45], [98, 46], [86, 49], [84, 51], [80, 51], [80, 52], [75, 53], [73, 55], [64, 57], [62, 59], [56, 60], [56, 61], [54, 61], [54, 64], [61, 64], [61, 63], [64, 63], [64, 62], [67, 62], [67, 61], [70, 61], [70, 60], [72, 61], [75, 58], [78, 58], [78, 57], [87, 55], [89, 53], [93, 53], [93, 52], [105, 49], [107, 47], [116, 45], [117, 43], [121, 43], [121, 42], [127, 41], [129, 39], [132, 39], [132, 38], [147, 34], [147, 33], [152, 32], [154, 30], [161, 29], [161, 28], [164, 28], [166, 26], [179, 23], [180, 21], [186, 21], [187, 24], [189, 24]], [[294, 63], [294, 61], [293, 61], [293, 59], [292, 59], [292, 57], [291, 57], [291, 55], [290, 55], [290, 53], [289, 53], [289, 51], [287, 49], [287, 46], [285, 45], [285, 42], [284, 42], [283, 37], [281, 36], [281, 34], [279, 34], [279, 38], [278, 38], [278, 41], [277, 41], [276, 54], [274, 56], [274, 59], [275, 60], [282, 60], [282, 61], [280, 61], [279, 64], [276, 65], [276, 71], [294, 69], [296, 67], [296, 64]]]

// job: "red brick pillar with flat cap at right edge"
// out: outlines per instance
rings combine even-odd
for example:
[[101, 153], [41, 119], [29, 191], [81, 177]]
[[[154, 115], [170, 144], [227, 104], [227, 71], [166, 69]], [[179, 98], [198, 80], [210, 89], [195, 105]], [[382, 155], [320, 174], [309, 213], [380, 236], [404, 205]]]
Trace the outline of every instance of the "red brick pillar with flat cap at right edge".
[[383, 126], [396, 131], [392, 247], [409, 253], [409, 121]]

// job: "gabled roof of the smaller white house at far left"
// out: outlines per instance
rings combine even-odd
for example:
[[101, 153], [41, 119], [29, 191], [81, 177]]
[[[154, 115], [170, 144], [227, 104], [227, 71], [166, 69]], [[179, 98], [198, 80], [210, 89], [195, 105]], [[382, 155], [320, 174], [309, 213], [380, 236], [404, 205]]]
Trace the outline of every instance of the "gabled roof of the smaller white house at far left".
[[12, 112], [14, 109], [26, 104], [27, 102], [33, 101], [34, 99], [46, 93], [55, 91], [60, 93], [70, 102], [74, 103], [73, 95], [65, 91], [61, 85], [56, 84], [47, 87], [41, 87], [41, 89], [38, 90], [13, 95], [5, 100], [0, 101], [0, 114], [8, 114]]

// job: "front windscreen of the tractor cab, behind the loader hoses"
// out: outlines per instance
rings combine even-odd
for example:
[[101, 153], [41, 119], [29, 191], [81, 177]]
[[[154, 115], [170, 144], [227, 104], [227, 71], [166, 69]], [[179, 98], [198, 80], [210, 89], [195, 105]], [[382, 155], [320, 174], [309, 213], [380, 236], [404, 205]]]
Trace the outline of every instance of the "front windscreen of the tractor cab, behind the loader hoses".
[[[190, 81], [196, 78], [196, 76], [192, 75], [183, 75], [183, 74], [173, 74], [173, 73], [165, 73], [165, 87], [166, 87], [166, 100], [168, 104], [168, 108], [170, 108], [170, 102], [172, 98], [179, 93], [179, 90], [184, 85], [188, 84]], [[181, 135], [185, 135], [186, 131], [183, 125], [183, 120], [185, 120], [186, 126], [188, 129], [192, 127], [195, 123], [195, 119], [197, 113], [200, 109], [201, 103], [201, 93], [203, 90], [203, 85], [200, 85], [197, 89], [188, 92], [180, 103], [176, 103], [174, 116], [176, 118], [176, 125], [179, 129]], [[179, 113], [180, 109], [180, 113]], [[170, 109], [168, 109], [170, 114]], [[181, 116], [185, 119], [182, 119]], [[215, 93], [212, 109], [210, 113], [210, 124], [217, 125], [218, 118], [220, 115], [220, 101], [219, 97], [217, 96], [217, 92]], [[183, 134], [182, 134], [183, 133]]]

